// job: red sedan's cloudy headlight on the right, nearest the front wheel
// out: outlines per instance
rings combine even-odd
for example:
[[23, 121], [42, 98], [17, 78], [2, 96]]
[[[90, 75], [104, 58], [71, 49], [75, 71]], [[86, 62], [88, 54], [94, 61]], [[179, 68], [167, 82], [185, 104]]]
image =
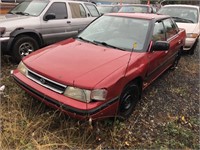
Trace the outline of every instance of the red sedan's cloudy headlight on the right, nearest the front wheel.
[[85, 90], [72, 86], [68, 86], [64, 92], [64, 95], [82, 102], [89, 103], [91, 100], [103, 101], [106, 99], [107, 90], [105, 89], [95, 89], [95, 90]]

